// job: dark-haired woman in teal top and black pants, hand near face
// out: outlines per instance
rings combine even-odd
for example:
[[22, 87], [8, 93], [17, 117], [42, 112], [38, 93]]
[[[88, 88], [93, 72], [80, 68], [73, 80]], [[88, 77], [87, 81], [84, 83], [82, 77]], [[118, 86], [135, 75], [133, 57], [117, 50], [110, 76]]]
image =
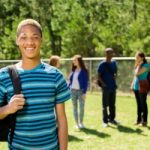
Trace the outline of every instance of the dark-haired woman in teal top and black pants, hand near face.
[[148, 107], [147, 93], [149, 91], [148, 82], [144, 85], [144, 90], [140, 89], [140, 81], [147, 80], [149, 64], [143, 52], [137, 52], [135, 55], [134, 78], [131, 84], [131, 89], [134, 92], [137, 104], [137, 120], [135, 125], [147, 126]]

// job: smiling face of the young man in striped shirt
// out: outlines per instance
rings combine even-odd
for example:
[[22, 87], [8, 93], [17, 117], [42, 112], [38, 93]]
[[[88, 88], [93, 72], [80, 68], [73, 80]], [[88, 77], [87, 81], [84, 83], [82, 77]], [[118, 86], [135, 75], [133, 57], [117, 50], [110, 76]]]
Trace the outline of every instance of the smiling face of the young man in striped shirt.
[[40, 59], [40, 46], [42, 37], [39, 29], [34, 25], [21, 27], [16, 43], [19, 46], [23, 60]]

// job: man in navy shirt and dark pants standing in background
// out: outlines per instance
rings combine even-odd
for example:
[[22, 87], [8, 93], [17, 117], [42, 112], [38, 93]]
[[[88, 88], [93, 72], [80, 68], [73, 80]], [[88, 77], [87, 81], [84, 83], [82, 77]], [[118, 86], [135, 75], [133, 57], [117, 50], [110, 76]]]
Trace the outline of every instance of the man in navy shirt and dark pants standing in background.
[[[102, 107], [103, 107], [103, 126], [107, 127], [108, 122], [117, 125], [115, 121], [116, 109], [116, 75], [117, 64], [112, 60], [113, 49], [105, 49], [106, 59], [98, 66], [98, 79], [102, 85]], [[109, 109], [109, 112], [108, 112]]]

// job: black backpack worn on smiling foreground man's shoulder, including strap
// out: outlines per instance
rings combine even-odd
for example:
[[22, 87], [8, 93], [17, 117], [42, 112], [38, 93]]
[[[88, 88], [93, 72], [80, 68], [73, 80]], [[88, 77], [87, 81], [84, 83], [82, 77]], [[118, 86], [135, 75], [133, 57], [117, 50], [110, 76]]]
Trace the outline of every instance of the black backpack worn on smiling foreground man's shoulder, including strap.
[[[11, 78], [13, 88], [14, 88], [14, 94], [20, 94], [21, 93], [21, 83], [20, 78], [17, 73], [17, 70], [14, 65], [8, 67], [9, 76]], [[5, 94], [4, 97], [4, 105], [7, 104], [7, 95]], [[8, 115], [4, 119], [0, 120], [0, 142], [1, 141], [8, 141], [8, 134], [10, 132], [10, 144], [13, 140], [14, 130], [15, 130], [15, 123], [16, 123], [16, 113]]]

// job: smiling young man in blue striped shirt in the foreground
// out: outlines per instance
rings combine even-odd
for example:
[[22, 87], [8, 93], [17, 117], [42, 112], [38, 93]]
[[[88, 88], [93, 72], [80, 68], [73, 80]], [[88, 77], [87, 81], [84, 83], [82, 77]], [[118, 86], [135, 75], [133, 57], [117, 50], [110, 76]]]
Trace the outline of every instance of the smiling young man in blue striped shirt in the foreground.
[[[0, 119], [17, 112], [9, 149], [67, 150], [68, 129], [64, 102], [70, 99], [67, 83], [56, 68], [41, 62], [42, 29], [33, 19], [20, 22], [16, 44], [22, 60], [15, 64], [22, 94], [13, 95], [7, 67], [0, 70]], [[57, 128], [58, 127], [58, 128]]]

